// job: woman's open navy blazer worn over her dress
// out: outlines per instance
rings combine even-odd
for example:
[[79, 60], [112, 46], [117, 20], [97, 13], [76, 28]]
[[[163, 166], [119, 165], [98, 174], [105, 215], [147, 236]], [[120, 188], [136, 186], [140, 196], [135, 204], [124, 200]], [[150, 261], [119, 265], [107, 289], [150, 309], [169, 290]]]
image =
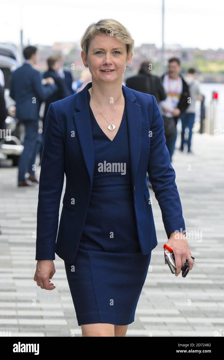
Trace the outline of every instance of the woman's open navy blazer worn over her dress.
[[[70, 264], [76, 258], [95, 163], [87, 98], [91, 85], [51, 103], [47, 113], [37, 207], [36, 260], [54, 260], [55, 253]], [[146, 255], [157, 245], [147, 172], [167, 237], [175, 230], [185, 232], [185, 224], [156, 99], [124, 85], [122, 89], [127, 107], [134, 212], [141, 251]], [[64, 174], [66, 187], [58, 229]]]

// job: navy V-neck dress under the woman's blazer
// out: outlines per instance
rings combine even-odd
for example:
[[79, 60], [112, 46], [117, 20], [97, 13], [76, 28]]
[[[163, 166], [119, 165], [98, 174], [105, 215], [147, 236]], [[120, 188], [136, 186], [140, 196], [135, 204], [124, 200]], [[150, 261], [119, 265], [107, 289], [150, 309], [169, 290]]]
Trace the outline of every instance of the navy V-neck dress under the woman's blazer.
[[134, 321], [151, 251], [142, 254], [137, 236], [126, 108], [111, 141], [97, 123], [87, 93], [93, 184], [77, 256], [72, 265], [65, 262], [65, 270], [79, 326], [128, 325]]

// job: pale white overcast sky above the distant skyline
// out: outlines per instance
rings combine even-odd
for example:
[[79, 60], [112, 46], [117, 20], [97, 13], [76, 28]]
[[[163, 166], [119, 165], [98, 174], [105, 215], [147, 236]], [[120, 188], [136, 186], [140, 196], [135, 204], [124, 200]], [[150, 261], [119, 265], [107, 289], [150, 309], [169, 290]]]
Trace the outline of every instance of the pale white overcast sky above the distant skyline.
[[[0, 0], [0, 42], [52, 45], [79, 42], [86, 27], [103, 18], [121, 22], [135, 45], [161, 46], [161, 0]], [[165, 0], [165, 44], [224, 48], [223, 0]]]

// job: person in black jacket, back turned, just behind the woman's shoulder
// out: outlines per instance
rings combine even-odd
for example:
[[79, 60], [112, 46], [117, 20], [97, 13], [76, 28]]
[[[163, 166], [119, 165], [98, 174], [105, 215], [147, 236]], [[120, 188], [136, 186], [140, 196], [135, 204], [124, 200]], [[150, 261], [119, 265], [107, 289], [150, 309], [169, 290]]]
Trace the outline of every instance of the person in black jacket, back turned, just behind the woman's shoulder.
[[141, 93], [154, 95], [156, 102], [165, 100], [166, 94], [158, 76], [152, 75], [148, 69], [150, 61], [144, 61], [138, 74], [127, 78], [125, 85], [130, 89], [140, 91]]

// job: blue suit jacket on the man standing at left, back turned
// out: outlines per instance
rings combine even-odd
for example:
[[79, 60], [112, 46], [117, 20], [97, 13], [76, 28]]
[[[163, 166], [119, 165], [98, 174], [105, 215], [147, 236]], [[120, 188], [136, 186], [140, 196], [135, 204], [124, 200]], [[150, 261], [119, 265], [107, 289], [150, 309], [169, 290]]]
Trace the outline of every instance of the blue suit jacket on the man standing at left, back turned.
[[20, 120], [39, 120], [42, 101], [56, 90], [56, 84], [42, 85], [39, 71], [24, 63], [13, 72], [10, 84], [9, 95], [16, 102], [16, 117]]

